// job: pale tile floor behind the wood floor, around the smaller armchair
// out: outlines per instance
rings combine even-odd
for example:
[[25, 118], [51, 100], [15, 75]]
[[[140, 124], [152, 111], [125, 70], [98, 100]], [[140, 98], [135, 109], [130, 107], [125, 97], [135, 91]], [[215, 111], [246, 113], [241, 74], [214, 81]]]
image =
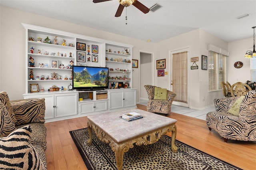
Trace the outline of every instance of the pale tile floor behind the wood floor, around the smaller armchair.
[[[140, 101], [141, 105], [147, 105], [147, 101]], [[182, 106], [177, 106], [177, 105], [172, 105], [172, 112], [186, 115], [189, 117], [195, 117], [197, 119], [202, 119], [205, 120], [206, 114], [211, 111], [215, 111], [214, 106], [208, 107], [206, 109], [202, 110], [196, 110], [196, 109], [190, 109], [188, 107], [182, 107]]]

